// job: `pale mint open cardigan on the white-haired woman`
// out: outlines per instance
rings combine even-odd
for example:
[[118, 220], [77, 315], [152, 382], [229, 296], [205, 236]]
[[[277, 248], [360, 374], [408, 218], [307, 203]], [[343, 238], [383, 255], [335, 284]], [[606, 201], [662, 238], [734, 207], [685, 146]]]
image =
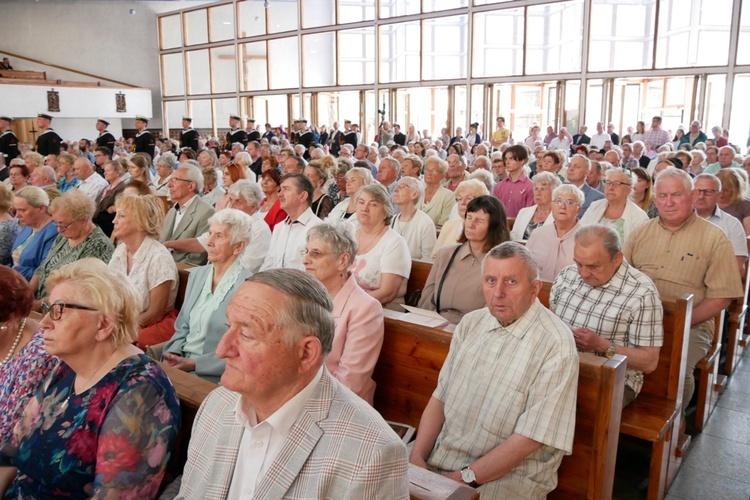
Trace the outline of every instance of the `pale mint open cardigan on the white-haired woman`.
[[[182, 303], [180, 314], [174, 323], [174, 335], [164, 346], [165, 353], [171, 352], [179, 356], [185, 355], [182, 351], [182, 346], [185, 345], [185, 340], [188, 333], [190, 333], [190, 313], [198, 301], [206, 279], [212, 271], [213, 266], [209, 264], [199, 267], [190, 273], [187, 290], [185, 290], [185, 301]], [[202, 379], [218, 384], [221, 375], [224, 373], [224, 367], [227, 363], [223, 359], [216, 357], [216, 347], [227, 332], [227, 306], [240, 285], [252, 275], [250, 271], [245, 269], [240, 271], [237, 281], [234, 282], [231, 290], [226, 294], [221, 305], [214, 311], [208, 321], [208, 333], [203, 345], [203, 355], [195, 358], [195, 372], [193, 372]]]

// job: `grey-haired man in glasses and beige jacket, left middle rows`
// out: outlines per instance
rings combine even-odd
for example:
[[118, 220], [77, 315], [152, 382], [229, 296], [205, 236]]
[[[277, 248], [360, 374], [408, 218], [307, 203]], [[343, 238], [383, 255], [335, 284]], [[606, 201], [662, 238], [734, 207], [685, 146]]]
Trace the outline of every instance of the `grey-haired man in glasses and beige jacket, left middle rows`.
[[214, 209], [198, 196], [203, 192], [203, 174], [194, 165], [181, 164], [170, 177], [167, 187], [175, 205], [167, 212], [159, 241], [172, 250], [175, 262], [202, 266], [208, 259], [206, 252], [182, 252], [175, 250], [171, 242], [197, 238], [208, 231], [208, 219], [214, 214]]

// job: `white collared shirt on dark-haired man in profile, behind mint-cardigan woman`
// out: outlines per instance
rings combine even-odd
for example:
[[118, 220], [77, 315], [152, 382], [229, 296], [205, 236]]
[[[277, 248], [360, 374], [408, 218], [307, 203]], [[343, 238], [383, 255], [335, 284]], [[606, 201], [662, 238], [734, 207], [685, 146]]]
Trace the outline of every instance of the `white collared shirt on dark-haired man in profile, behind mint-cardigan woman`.
[[276, 224], [271, 235], [268, 255], [260, 270], [280, 267], [304, 270], [302, 250], [305, 249], [307, 243], [307, 231], [322, 223], [323, 221], [316, 217], [308, 207], [297, 220], [292, 221], [291, 217], [287, 217], [284, 222]]

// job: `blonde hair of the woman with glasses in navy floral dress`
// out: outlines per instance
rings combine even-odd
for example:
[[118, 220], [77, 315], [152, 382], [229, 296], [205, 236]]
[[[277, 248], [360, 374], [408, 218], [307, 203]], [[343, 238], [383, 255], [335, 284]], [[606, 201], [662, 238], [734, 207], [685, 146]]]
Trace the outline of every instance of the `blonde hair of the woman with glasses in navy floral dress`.
[[62, 283], [72, 285], [76, 296], [91, 300], [91, 307], [109, 319], [114, 327], [115, 348], [135, 341], [140, 300], [124, 274], [110, 269], [99, 259], [86, 258], [52, 271], [47, 278], [47, 289], [52, 291]]

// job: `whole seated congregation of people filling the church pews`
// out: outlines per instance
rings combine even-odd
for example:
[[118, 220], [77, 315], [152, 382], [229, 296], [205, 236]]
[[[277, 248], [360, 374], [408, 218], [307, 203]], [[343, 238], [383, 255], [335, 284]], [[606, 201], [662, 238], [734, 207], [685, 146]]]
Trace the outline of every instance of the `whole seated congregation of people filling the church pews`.
[[[78, 141], [53, 121], [32, 147], [0, 116], [4, 498], [408, 498], [409, 463], [545, 498], [573, 449], [577, 353], [627, 356], [631, 404], [662, 301], [693, 294], [684, 412], [744, 294], [750, 154], [698, 120], [525, 138], [503, 117], [465, 137], [384, 121], [371, 144], [349, 120], [233, 114], [212, 137], [184, 116], [178, 140], [138, 116], [117, 140], [101, 118]], [[413, 261], [431, 262], [416, 298]], [[372, 407], [407, 302], [456, 325], [408, 450]], [[169, 480], [162, 365], [220, 384]]]

